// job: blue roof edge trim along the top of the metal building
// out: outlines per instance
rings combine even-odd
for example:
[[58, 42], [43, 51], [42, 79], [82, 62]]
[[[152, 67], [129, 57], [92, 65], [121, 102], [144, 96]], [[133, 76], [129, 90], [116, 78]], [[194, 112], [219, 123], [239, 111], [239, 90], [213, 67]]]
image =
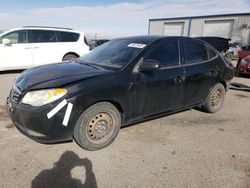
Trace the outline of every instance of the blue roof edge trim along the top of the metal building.
[[183, 20], [183, 19], [195, 19], [195, 18], [199, 19], [199, 18], [232, 17], [232, 16], [250, 16], [250, 12], [246, 12], [246, 13], [234, 13], [234, 14], [203, 15], [203, 16], [172, 17], [172, 18], [153, 18], [153, 19], [149, 19], [149, 21]]

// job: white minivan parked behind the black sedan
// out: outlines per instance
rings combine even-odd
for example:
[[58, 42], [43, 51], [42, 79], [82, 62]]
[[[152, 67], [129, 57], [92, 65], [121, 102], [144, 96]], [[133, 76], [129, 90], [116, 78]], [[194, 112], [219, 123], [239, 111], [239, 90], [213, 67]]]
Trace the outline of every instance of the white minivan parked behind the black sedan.
[[73, 61], [89, 52], [83, 32], [26, 26], [0, 34], [0, 71]]

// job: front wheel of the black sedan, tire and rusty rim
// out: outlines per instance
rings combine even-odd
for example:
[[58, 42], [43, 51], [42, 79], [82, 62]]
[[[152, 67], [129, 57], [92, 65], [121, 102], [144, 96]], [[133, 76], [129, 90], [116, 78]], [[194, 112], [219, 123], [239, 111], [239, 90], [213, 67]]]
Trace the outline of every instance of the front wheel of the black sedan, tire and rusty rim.
[[108, 102], [90, 106], [78, 118], [73, 138], [83, 149], [95, 151], [110, 145], [121, 127], [121, 114]]

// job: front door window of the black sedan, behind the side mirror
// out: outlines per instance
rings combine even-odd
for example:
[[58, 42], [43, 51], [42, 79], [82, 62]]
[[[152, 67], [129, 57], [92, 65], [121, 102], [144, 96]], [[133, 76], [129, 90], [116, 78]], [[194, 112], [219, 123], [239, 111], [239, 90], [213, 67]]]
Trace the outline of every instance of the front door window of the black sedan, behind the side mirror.
[[156, 60], [163, 66], [178, 65], [178, 43], [176, 41], [165, 40], [149, 52], [144, 59]]

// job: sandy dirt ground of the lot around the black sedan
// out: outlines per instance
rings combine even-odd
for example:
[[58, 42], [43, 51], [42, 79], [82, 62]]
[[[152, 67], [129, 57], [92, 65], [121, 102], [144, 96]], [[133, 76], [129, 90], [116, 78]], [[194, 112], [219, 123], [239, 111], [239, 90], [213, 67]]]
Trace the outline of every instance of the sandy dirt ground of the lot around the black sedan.
[[0, 187], [250, 187], [250, 92], [230, 90], [216, 114], [191, 109], [124, 128], [88, 152], [14, 128], [4, 102], [17, 75], [0, 75]]

